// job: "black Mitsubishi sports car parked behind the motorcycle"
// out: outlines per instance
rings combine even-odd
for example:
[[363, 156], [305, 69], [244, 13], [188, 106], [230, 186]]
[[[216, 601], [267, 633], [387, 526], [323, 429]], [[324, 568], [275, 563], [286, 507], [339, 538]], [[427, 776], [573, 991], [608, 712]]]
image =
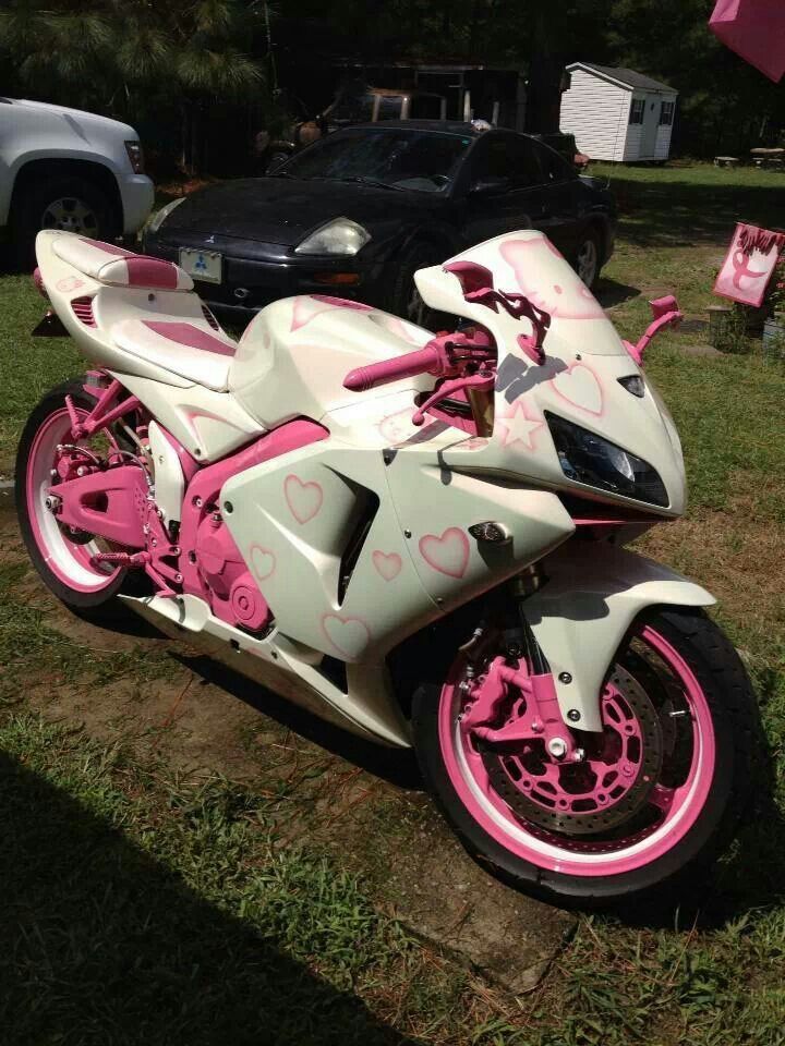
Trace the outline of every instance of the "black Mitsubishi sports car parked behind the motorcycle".
[[321, 292], [422, 323], [413, 272], [514, 229], [541, 229], [591, 285], [615, 216], [607, 190], [530, 135], [390, 121], [168, 204], [144, 250], [179, 262], [217, 308]]

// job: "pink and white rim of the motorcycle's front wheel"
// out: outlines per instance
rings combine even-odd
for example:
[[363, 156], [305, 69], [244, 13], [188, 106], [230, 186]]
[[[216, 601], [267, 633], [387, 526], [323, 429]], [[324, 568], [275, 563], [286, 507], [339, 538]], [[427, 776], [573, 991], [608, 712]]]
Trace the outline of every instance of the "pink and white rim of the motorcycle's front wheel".
[[[494, 791], [482, 758], [461, 733], [458, 711], [460, 661], [442, 690], [438, 731], [449, 779], [464, 807], [497, 843], [538, 867], [563, 875], [607, 876], [632, 872], [668, 853], [692, 828], [703, 810], [715, 766], [714, 727], [702, 686], [675, 647], [647, 625], [639, 634], [683, 689], [692, 723], [692, 755], [685, 780], [673, 789], [667, 808], [651, 829], [612, 841], [545, 832], [519, 819]], [[655, 786], [656, 788], [657, 786]]]

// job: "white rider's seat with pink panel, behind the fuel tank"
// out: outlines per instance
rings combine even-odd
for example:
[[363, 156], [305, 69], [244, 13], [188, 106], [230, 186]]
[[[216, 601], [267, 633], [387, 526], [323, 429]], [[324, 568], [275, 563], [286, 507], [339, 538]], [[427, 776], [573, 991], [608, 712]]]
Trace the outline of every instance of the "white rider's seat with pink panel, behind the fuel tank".
[[186, 381], [214, 392], [226, 392], [237, 342], [222, 330], [212, 329], [203, 318], [149, 316], [149, 319], [123, 319], [114, 324], [111, 337], [118, 348]]

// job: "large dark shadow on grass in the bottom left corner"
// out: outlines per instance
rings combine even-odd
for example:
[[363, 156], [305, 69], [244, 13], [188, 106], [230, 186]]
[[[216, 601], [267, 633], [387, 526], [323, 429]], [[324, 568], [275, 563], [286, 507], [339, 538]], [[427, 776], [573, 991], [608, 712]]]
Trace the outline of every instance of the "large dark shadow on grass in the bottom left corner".
[[412, 1042], [4, 754], [0, 835], [4, 1046]]

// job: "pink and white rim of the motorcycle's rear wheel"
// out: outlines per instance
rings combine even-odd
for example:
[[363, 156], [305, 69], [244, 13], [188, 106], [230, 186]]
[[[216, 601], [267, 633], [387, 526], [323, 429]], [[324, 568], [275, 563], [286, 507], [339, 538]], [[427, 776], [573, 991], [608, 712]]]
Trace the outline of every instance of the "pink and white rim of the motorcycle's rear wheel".
[[[76, 413], [86, 416], [78, 408]], [[74, 592], [97, 593], [112, 584], [118, 568], [96, 569], [90, 557], [97, 547], [93, 543], [70, 542], [45, 503], [52, 486], [49, 473], [55, 464], [55, 451], [58, 443], [64, 442], [72, 442], [72, 437], [71, 418], [63, 406], [47, 417], [31, 447], [25, 477], [27, 518], [38, 550], [55, 576]]]

